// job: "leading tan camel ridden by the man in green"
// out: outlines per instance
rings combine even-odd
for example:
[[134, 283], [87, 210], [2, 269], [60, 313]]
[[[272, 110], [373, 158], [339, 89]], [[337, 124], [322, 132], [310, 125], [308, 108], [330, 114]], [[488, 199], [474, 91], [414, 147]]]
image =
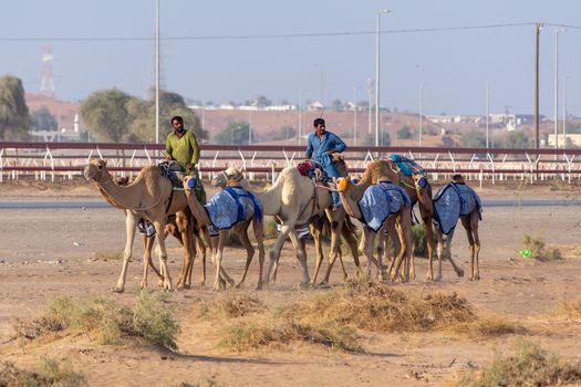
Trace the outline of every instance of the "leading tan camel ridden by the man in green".
[[[191, 222], [187, 221], [190, 218], [189, 207], [187, 205], [185, 195], [174, 195], [172, 182], [168, 178], [159, 172], [156, 166], [144, 167], [137, 178], [127, 186], [120, 186], [115, 184], [112, 175], [106, 168], [106, 160], [92, 159], [84, 168], [85, 178], [96, 184], [97, 188], [108, 197], [107, 201], [114, 202], [116, 208], [127, 209], [134, 216], [126, 217], [126, 231], [131, 237], [127, 238], [127, 245], [133, 244], [135, 236], [136, 219], [145, 218], [153, 222], [156, 233], [158, 236], [157, 243], [159, 248], [159, 272], [165, 290], [173, 290], [172, 278], [167, 268], [167, 250], [165, 247], [165, 226], [167, 223], [167, 216], [176, 213], [176, 217], [184, 219], [181, 224], [181, 238], [185, 247], [184, 266], [179, 276], [178, 284], [183, 285], [188, 278], [193, 264], [193, 257], [195, 257], [195, 239], [191, 231]], [[131, 247], [129, 250], [131, 252]], [[123, 289], [125, 283], [125, 275], [131, 255], [124, 255], [124, 263], [118, 289]], [[145, 271], [145, 270], [144, 270]]]

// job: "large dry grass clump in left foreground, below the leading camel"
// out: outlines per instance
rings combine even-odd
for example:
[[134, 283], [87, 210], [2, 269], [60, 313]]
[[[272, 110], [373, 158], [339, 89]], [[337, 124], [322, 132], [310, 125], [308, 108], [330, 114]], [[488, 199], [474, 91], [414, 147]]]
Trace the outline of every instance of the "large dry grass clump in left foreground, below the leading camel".
[[105, 297], [73, 302], [54, 300], [45, 315], [32, 321], [15, 320], [17, 337], [35, 339], [49, 334], [86, 333], [101, 344], [117, 344], [122, 337], [141, 337], [146, 342], [176, 349], [179, 326], [162, 296], [153, 291], [137, 294], [133, 307], [120, 306]]

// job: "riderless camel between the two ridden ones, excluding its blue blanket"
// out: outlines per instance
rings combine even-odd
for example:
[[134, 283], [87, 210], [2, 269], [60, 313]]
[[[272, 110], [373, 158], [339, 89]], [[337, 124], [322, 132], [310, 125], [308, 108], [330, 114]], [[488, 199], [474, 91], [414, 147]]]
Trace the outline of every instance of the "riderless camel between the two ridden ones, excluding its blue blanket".
[[[194, 215], [194, 217], [196, 218], [199, 224], [206, 226], [206, 227], [214, 226], [208, 212], [206, 211], [204, 206], [196, 199], [196, 194], [189, 189], [188, 181], [190, 179], [191, 177], [189, 176], [184, 179], [184, 188], [186, 189], [186, 197], [187, 197], [191, 213]], [[228, 185], [231, 187], [238, 186], [236, 181], [228, 184]], [[245, 273], [242, 274], [242, 278], [240, 279], [240, 281], [238, 282], [236, 286], [238, 287], [245, 282], [246, 275], [248, 273], [248, 268], [250, 266], [250, 263], [252, 262], [252, 258], [255, 257], [255, 249], [252, 248], [252, 243], [250, 243], [250, 239], [248, 238], [248, 227], [250, 226], [250, 223], [252, 223], [252, 230], [255, 231], [255, 237], [258, 243], [259, 276], [258, 276], [257, 289], [261, 290], [262, 289], [262, 268], [264, 264], [264, 241], [262, 237], [262, 219], [258, 219], [258, 217], [255, 216], [255, 212], [256, 211], [252, 211], [251, 213], [247, 213], [246, 218], [242, 221], [234, 224], [232, 227], [234, 231], [240, 238], [240, 241], [242, 242], [242, 245], [245, 247], [246, 252], [247, 252]], [[214, 280], [215, 291], [219, 291], [224, 285], [224, 281], [220, 279], [220, 274], [222, 274], [226, 279], [229, 279], [228, 274], [226, 273], [226, 270], [224, 270], [221, 265], [224, 248], [226, 245], [226, 241], [228, 240], [228, 232], [229, 232], [229, 229], [221, 229], [218, 231], [217, 237], [210, 237], [211, 260], [216, 269], [216, 276]]]

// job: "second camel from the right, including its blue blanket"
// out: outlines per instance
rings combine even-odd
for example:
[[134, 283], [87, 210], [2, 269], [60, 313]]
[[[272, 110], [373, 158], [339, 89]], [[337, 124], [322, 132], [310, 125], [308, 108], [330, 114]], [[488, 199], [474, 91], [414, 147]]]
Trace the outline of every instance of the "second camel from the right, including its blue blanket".
[[[380, 280], [384, 280], [384, 269], [382, 263], [382, 255], [383, 255], [383, 249], [381, 248], [384, 243], [385, 239], [385, 231], [390, 231], [391, 234], [397, 233], [398, 240], [400, 240], [400, 250], [397, 253], [397, 258], [395, 260], [395, 265], [392, 262], [392, 265], [394, 265], [394, 271], [392, 271], [392, 265], [390, 266], [390, 276], [392, 280], [395, 280], [395, 278], [398, 275], [400, 266], [404, 260], [406, 260], [405, 265], [405, 274], [404, 274], [404, 281], [408, 281], [409, 273], [408, 273], [408, 265], [412, 260], [412, 249], [413, 249], [413, 239], [412, 239], [412, 210], [411, 210], [411, 203], [409, 198], [406, 197], [405, 191], [401, 189], [396, 185], [391, 185], [392, 188], [388, 189], [390, 194], [387, 195], [384, 189], [387, 188], [381, 188], [374, 194], [374, 195], [381, 195], [386, 196], [387, 198], [391, 198], [387, 201], [387, 205], [390, 201], [398, 200], [401, 206], [398, 210], [396, 210], [393, 213], [386, 213], [386, 218], [383, 220], [381, 224], [374, 224], [375, 230], [373, 230], [370, 224], [365, 224], [365, 221], [363, 219], [362, 210], [360, 209], [359, 202], [363, 198], [363, 195], [365, 191], [374, 186], [372, 184], [372, 175], [375, 172], [377, 174], [381, 171], [382, 165], [381, 163], [384, 163], [382, 160], [375, 160], [372, 161], [370, 165], [367, 165], [367, 168], [363, 175], [363, 178], [355, 185], [350, 184], [346, 179], [341, 178], [339, 182], [339, 195], [341, 198], [341, 201], [343, 202], [343, 207], [345, 208], [345, 211], [360, 220], [364, 223], [363, 233], [364, 233], [364, 252], [367, 257], [367, 274], [371, 275], [371, 264], [375, 264], [378, 270], [378, 278]], [[378, 176], [375, 176], [377, 179], [377, 184], [381, 184], [382, 180], [387, 180], [387, 178], [381, 178]], [[377, 186], [378, 187], [378, 186]], [[401, 191], [398, 191], [401, 189]], [[393, 195], [395, 195], [396, 199], [394, 199]], [[375, 243], [375, 237], [380, 237], [380, 249], [377, 253], [377, 260], [373, 257], [373, 247]]]

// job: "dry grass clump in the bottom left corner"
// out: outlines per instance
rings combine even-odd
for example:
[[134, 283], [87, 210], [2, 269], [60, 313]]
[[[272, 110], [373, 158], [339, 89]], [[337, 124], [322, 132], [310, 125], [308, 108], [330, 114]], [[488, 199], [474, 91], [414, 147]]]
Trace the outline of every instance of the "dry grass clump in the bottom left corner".
[[82, 373], [73, 370], [71, 362], [43, 358], [37, 370], [21, 369], [13, 363], [0, 364], [0, 387], [82, 386], [86, 385]]

